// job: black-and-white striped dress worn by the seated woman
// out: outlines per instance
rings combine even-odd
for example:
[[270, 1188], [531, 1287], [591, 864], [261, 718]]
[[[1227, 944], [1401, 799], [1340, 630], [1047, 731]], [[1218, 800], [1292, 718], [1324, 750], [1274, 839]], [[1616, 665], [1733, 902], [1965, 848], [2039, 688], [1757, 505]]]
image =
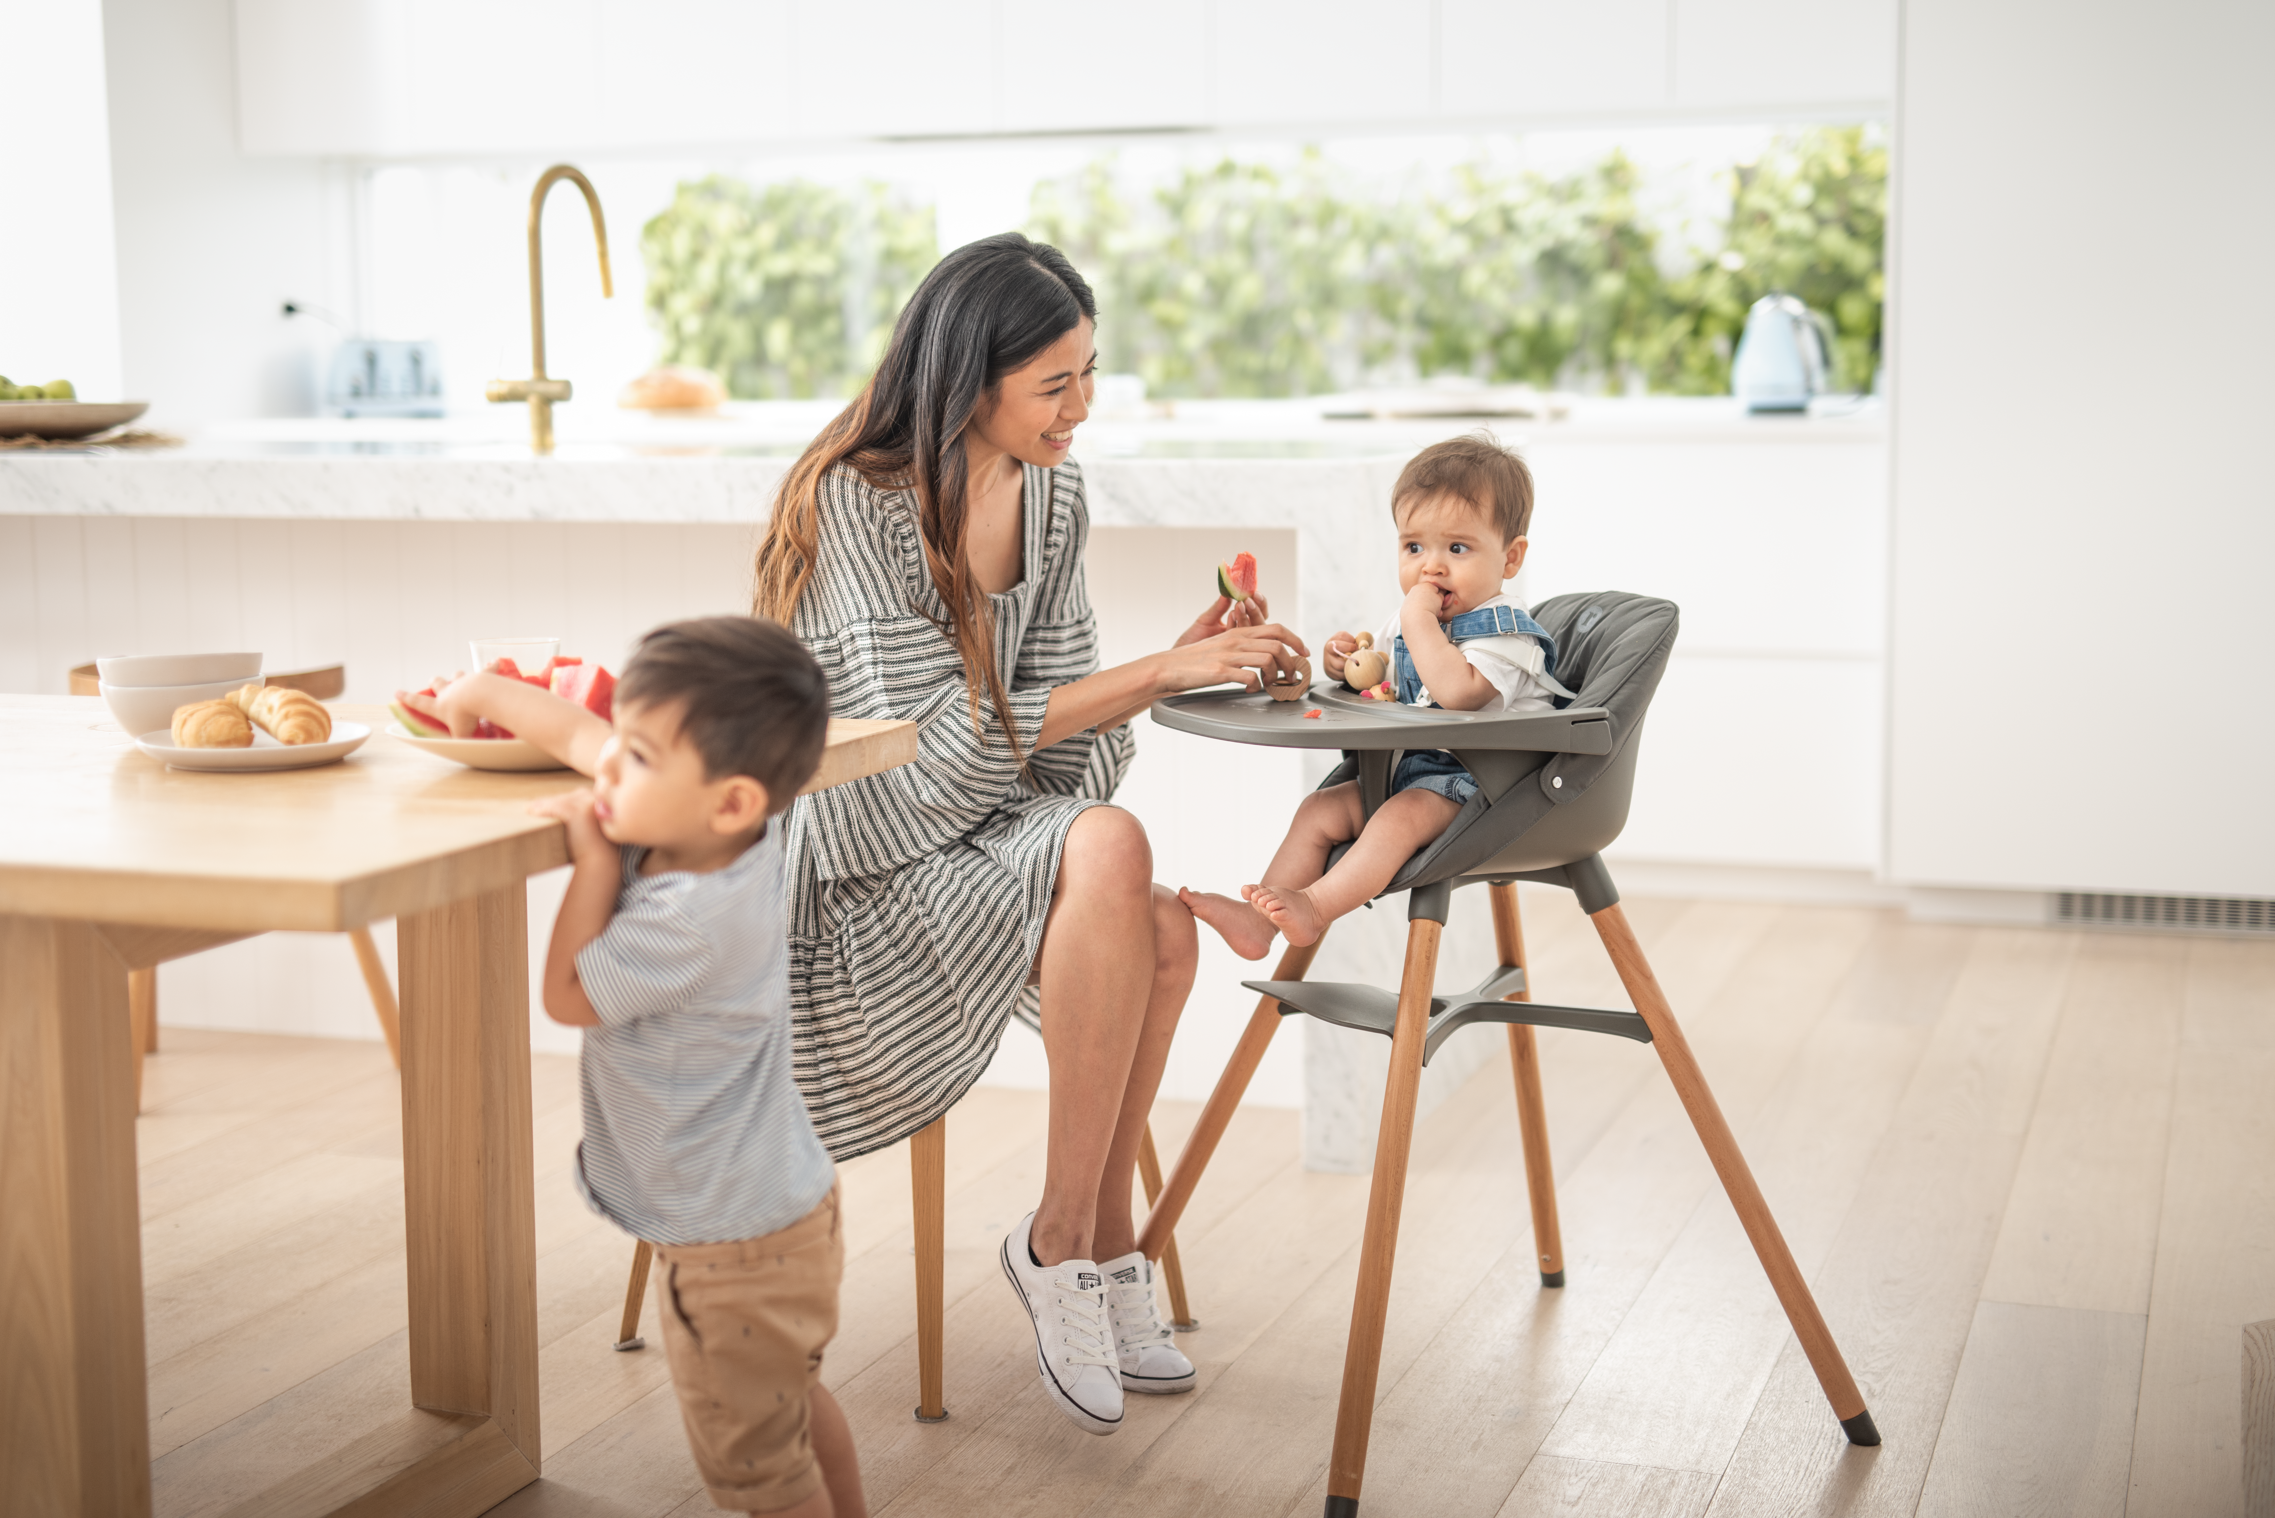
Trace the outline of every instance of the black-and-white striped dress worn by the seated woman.
[[[1026, 578], [990, 596], [994, 653], [1019, 742], [1051, 687], [1099, 667], [1083, 585], [1090, 512], [1074, 462], [1026, 471]], [[821, 480], [821, 555], [792, 630], [830, 680], [835, 717], [919, 724], [917, 760], [803, 797], [789, 815], [794, 1074], [814, 1131], [844, 1161], [949, 1111], [994, 1056], [1003, 1022], [1035, 1015], [1058, 856], [1074, 817], [1122, 783], [1126, 726], [1078, 733], [1026, 772], [981, 683], [942, 633], [915, 494], [839, 464]]]

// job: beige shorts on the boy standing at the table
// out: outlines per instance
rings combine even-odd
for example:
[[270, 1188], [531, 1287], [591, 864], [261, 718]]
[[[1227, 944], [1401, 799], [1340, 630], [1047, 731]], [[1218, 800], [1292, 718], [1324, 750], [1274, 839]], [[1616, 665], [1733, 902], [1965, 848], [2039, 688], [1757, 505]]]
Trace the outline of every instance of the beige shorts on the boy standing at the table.
[[687, 1443], [712, 1502], [746, 1513], [821, 1491], [810, 1397], [846, 1270], [837, 1188], [778, 1234], [657, 1245], [657, 1315]]

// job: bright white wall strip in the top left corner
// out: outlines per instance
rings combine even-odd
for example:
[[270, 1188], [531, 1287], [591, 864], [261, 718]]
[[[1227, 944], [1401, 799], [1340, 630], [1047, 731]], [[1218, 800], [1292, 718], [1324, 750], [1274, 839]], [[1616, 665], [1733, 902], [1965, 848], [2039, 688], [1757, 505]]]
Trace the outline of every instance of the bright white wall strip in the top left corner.
[[118, 401], [100, 0], [0, 0], [0, 373]]

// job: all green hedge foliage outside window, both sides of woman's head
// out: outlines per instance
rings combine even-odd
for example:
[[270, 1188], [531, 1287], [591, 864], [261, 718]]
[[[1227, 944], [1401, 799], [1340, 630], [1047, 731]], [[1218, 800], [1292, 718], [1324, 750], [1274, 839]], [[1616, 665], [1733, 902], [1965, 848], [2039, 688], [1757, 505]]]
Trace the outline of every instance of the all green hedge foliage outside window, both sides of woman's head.
[[[1224, 159], [1128, 198], [1112, 159], [1035, 187], [1028, 232], [1099, 296], [1101, 369], [1158, 396], [1301, 396], [1429, 376], [1727, 394], [1747, 307], [1788, 291], [1836, 364], [1879, 364], [1888, 150], [1872, 127], [1779, 137], [1729, 173], [1706, 246], [1670, 246], [1613, 152], [1547, 178], [1465, 164], [1397, 200], [1315, 152]], [[940, 257], [928, 207], [880, 184], [680, 184], [644, 234], [662, 357], [728, 394], [842, 396]]]

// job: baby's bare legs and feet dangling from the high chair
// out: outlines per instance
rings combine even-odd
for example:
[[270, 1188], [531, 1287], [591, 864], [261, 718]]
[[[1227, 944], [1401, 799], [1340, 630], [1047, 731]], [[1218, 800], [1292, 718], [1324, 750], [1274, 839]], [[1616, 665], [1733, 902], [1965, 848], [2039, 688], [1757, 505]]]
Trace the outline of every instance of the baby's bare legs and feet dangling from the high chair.
[[[1233, 954], [1258, 960], [1272, 949], [1274, 935], [1290, 944], [1317, 942], [1326, 924], [1390, 885], [1399, 865], [1445, 833], [1458, 810], [1433, 790], [1401, 790], [1367, 817], [1356, 783], [1329, 785], [1294, 808], [1294, 822], [1288, 824], [1288, 838], [1272, 856], [1263, 885], [1244, 888], [1242, 899], [1201, 890], [1176, 894], [1194, 917], [1224, 935]], [[1342, 842], [1351, 842], [1351, 851], [1329, 869], [1326, 856]]]

